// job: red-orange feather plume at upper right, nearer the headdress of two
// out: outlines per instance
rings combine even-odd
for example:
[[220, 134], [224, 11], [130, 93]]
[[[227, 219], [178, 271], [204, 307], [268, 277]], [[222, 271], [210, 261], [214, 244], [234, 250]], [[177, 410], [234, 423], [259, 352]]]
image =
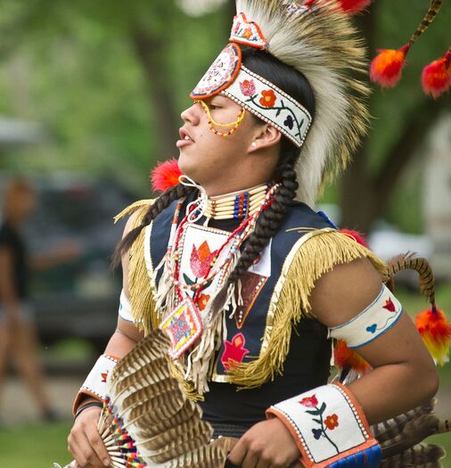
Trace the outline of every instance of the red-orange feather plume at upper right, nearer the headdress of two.
[[379, 55], [371, 62], [370, 78], [381, 87], [397, 86], [406, 65], [406, 54], [410, 45], [406, 44], [399, 49], [378, 49]]

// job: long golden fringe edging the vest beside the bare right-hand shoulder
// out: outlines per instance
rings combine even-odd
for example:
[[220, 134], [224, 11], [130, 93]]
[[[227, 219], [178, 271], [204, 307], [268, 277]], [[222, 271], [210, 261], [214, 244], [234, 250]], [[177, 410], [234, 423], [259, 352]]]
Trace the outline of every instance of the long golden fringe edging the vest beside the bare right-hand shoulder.
[[[299, 246], [300, 243], [300, 246]], [[255, 388], [282, 374], [290, 349], [291, 327], [304, 316], [311, 316], [310, 293], [320, 276], [336, 265], [367, 258], [387, 279], [385, 262], [371, 250], [335, 230], [323, 229], [304, 234], [283, 264], [283, 270], [268, 309], [266, 333], [260, 356], [239, 364], [231, 371], [231, 382], [240, 388]]]

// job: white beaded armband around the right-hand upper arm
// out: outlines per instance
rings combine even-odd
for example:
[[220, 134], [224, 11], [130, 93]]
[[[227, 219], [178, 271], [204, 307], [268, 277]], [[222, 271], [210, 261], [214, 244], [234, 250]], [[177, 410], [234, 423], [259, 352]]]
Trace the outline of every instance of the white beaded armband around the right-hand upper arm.
[[373, 302], [346, 324], [329, 329], [329, 336], [344, 340], [348, 348], [358, 348], [387, 332], [398, 322], [402, 306], [385, 285]]

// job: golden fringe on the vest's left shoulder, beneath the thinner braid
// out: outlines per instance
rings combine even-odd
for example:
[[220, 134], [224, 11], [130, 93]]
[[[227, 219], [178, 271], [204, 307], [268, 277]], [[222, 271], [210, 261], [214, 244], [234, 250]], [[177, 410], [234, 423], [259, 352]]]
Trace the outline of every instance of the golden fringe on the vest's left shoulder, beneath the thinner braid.
[[[141, 224], [151, 204], [152, 200], [135, 201], [135, 203], [123, 209], [114, 219], [119, 221], [119, 219], [127, 215], [136, 214], [132, 223], [132, 228], [135, 228]], [[158, 323], [154, 313], [155, 301], [153, 300], [151, 281], [145, 266], [144, 236], [145, 229], [141, 231], [129, 251], [128, 287], [136, 326], [143, 330], [145, 334], [148, 334], [152, 328], [158, 327]]]

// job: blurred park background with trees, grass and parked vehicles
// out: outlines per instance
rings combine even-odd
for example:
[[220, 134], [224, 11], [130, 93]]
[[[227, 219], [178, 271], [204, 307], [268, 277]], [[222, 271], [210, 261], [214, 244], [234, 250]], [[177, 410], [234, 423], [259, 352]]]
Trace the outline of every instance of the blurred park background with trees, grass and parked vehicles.
[[[375, 0], [357, 18], [371, 57], [404, 45], [426, 0]], [[109, 257], [123, 224], [112, 217], [152, 196], [149, 170], [176, 157], [180, 111], [223, 45], [231, 0], [34, 0], [0, 3], [0, 200], [25, 177], [37, 207], [23, 225], [29, 255], [77, 254], [31, 277], [37, 357], [55, 418], [49, 423], [9, 365], [0, 380], [0, 466], [69, 462], [70, 406], [114, 330], [121, 274]], [[348, 173], [318, 206], [368, 234], [384, 259], [430, 260], [439, 307], [451, 315], [451, 103], [422, 93], [421, 72], [449, 45], [451, 5], [414, 45], [399, 86], [370, 98], [371, 132]], [[397, 295], [427, 307], [416, 275]], [[451, 370], [440, 370], [440, 415], [451, 416]], [[422, 378], [421, 375], [418, 376]], [[451, 452], [449, 436], [435, 438]], [[451, 462], [444, 462], [451, 466]]]

